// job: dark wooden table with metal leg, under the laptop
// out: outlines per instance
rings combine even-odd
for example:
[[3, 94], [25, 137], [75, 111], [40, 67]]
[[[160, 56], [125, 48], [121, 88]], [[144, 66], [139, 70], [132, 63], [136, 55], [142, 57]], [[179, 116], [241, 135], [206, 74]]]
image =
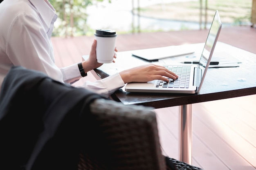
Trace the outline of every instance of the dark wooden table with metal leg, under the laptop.
[[[196, 53], [200, 53], [202, 43], [195, 46]], [[134, 57], [132, 51], [119, 52], [115, 63], [103, 64], [94, 69], [97, 79], [107, 77], [124, 69], [149, 63], [146, 60]], [[204, 79], [201, 91], [198, 94], [167, 94], [167, 93], [128, 93], [124, 88], [111, 95], [112, 99], [123, 104], [137, 104], [164, 108], [180, 106], [180, 160], [191, 164], [192, 145], [192, 104], [232, 97], [256, 94], [256, 54], [238, 49], [234, 46], [218, 42], [213, 54], [223, 53], [240, 60], [239, 67], [209, 68]], [[184, 60], [180, 56], [181, 60]], [[213, 60], [213, 59], [212, 59]], [[176, 58], [153, 61], [155, 64], [177, 62]]]

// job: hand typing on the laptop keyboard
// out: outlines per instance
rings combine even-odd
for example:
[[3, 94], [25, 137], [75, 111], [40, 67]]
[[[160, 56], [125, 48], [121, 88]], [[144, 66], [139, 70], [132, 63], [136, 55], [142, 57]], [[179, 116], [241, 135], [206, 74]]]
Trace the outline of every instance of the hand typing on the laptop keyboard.
[[168, 82], [168, 78], [177, 79], [177, 75], [169, 71], [164, 66], [155, 64], [146, 64], [130, 68], [119, 73], [124, 83], [130, 82], [149, 82], [155, 79], [160, 79]]

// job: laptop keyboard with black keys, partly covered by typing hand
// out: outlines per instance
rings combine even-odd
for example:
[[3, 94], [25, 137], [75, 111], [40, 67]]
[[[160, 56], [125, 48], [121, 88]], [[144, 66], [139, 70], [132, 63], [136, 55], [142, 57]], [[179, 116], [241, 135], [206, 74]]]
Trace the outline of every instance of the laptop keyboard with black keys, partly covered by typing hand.
[[166, 68], [179, 77], [174, 80], [169, 78], [169, 82], [157, 81], [156, 87], [159, 88], [189, 88], [189, 78], [191, 66], [166, 66]]

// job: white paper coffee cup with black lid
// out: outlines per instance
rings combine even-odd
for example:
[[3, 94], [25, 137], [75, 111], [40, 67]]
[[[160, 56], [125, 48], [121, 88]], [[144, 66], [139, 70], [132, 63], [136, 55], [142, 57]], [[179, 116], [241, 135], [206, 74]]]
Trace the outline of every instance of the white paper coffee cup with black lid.
[[96, 56], [98, 63], [111, 63], [115, 54], [117, 33], [110, 29], [96, 29]]

